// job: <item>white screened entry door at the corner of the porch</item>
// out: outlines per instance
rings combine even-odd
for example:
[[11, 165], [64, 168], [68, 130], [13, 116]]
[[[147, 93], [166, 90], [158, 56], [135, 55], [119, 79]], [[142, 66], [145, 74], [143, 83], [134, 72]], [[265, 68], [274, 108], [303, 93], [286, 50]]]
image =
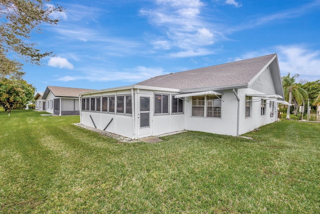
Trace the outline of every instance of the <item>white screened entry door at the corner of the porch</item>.
[[138, 138], [151, 136], [151, 100], [151, 95], [138, 95]]

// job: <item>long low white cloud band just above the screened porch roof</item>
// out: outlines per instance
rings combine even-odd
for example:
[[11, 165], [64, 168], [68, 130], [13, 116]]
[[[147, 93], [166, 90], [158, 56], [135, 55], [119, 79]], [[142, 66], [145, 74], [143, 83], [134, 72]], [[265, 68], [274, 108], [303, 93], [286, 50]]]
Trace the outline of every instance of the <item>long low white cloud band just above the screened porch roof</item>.
[[66, 75], [59, 77], [56, 81], [73, 81], [73, 80], [87, 80], [91, 82], [100, 81], [122, 81], [122, 82], [140, 82], [154, 76], [163, 75], [162, 68], [147, 68], [144, 66], [137, 66], [133, 69], [125, 69], [123, 71], [102, 70], [101, 68], [83, 68], [82, 75]]

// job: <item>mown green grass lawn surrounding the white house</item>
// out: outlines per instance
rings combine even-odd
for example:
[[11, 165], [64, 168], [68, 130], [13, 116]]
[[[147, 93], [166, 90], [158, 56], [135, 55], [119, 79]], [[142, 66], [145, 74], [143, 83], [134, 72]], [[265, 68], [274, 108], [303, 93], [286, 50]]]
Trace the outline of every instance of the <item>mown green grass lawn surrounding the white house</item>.
[[0, 113], [0, 212], [320, 212], [318, 123], [119, 143], [40, 114]]

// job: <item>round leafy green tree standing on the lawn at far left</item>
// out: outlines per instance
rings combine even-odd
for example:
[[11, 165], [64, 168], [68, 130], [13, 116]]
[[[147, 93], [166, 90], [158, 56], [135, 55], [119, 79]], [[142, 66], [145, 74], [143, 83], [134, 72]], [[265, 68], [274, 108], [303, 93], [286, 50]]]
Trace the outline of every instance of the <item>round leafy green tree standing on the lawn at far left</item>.
[[7, 110], [8, 116], [12, 109], [33, 99], [35, 88], [24, 80], [0, 80], [0, 104]]

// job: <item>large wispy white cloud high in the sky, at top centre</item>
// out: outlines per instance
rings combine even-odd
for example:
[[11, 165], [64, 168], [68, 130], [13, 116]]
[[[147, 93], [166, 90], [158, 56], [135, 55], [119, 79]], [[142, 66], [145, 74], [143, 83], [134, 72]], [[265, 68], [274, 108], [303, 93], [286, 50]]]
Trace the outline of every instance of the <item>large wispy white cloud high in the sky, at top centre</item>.
[[201, 17], [205, 5], [199, 0], [158, 0], [156, 4], [156, 9], [140, 10], [140, 14], [165, 33], [150, 42], [155, 49], [181, 50], [169, 56], [200, 56], [207, 51], [194, 50], [214, 44], [215, 35], [221, 36], [212, 30], [211, 23], [204, 21], [205, 17]]

